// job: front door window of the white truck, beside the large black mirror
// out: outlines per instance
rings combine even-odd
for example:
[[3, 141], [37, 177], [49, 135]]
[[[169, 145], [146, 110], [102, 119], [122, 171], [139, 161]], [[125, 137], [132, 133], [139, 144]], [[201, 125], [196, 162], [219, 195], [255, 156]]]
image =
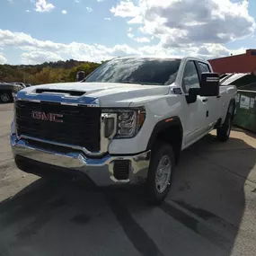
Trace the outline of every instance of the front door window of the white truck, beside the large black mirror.
[[200, 88], [199, 74], [194, 61], [189, 60], [185, 66], [182, 78], [184, 93], [189, 93], [190, 88]]

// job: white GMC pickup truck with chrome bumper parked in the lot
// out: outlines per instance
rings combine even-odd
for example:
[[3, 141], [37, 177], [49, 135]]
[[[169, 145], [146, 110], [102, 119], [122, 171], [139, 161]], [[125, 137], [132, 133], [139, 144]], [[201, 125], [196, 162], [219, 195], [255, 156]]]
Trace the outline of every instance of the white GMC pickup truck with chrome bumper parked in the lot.
[[94, 184], [142, 184], [161, 203], [181, 150], [216, 128], [230, 135], [236, 87], [194, 57], [117, 57], [81, 82], [16, 95], [15, 163], [40, 176], [85, 174]]

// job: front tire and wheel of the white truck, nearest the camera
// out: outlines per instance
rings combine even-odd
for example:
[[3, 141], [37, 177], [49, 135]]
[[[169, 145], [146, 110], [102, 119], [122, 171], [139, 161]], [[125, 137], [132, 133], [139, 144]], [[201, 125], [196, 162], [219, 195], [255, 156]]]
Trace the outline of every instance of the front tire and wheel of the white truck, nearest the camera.
[[[146, 180], [148, 202], [150, 204], [160, 205], [168, 194], [172, 184], [175, 159], [172, 146], [164, 142], [156, 142], [153, 146], [151, 155], [152, 157]], [[161, 171], [159, 169], [161, 163], [163, 165], [166, 164], [165, 170], [163, 169]], [[170, 168], [168, 168], [168, 164]], [[163, 182], [162, 184], [160, 182], [161, 180]]]

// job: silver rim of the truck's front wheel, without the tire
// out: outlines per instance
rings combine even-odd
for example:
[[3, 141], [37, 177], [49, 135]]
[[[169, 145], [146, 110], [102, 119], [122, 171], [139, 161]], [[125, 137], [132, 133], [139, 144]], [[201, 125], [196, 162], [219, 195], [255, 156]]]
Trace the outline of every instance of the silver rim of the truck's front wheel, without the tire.
[[158, 193], [163, 193], [169, 185], [172, 173], [172, 161], [170, 156], [163, 155], [160, 159], [155, 173], [155, 188]]

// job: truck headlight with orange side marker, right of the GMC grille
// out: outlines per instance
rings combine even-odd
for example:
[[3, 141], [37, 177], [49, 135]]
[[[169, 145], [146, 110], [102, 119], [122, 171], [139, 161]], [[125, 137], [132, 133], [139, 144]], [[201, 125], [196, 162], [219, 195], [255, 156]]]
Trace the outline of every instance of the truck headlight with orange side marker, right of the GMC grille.
[[[116, 128], [116, 138], [129, 138], [135, 137], [142, 127], [146, 119], [146, 110], [144, 108], [139, 109], [119, 109], [119, 110], [103, 110], [107, 113], [115, 113], [117, 117], [117, 128]], [[110, 123], [110, 128], [113, 131], [113, 121], [107, 122]], [[109, 128], [108, 134], [110, 134]], [[105, 133], [106, 134], [106, 133]]]

